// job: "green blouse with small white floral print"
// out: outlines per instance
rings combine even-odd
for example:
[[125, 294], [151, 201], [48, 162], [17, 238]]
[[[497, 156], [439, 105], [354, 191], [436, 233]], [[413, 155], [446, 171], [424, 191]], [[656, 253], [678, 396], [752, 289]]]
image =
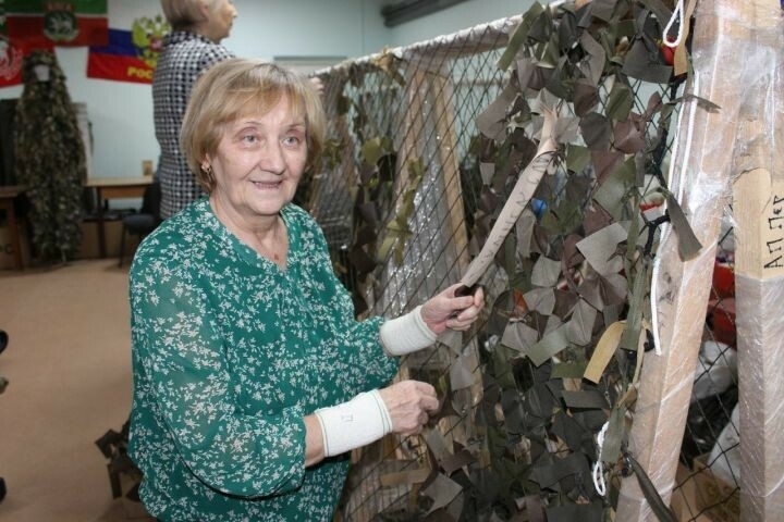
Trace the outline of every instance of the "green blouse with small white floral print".
[[355, 321], [318, 225], [295, 206], [281, 214], [285, 271], [207, 199], [163, 222], [134, 259], [128, 452], [160, 520], [331, 520], [348, 462], [306, 470], [303, 417], [397, 370], [381, 320]]

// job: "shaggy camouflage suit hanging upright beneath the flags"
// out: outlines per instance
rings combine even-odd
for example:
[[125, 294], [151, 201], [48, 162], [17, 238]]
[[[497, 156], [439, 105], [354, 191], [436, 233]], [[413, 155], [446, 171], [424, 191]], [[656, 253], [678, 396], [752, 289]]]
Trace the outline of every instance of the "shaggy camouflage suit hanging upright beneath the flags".
[[40, 260], [65, 262], [82, 241], [85, 148], [56, 55], [30, 53], [23, 79], [14, 140], [16, 176], [28, 187], [32, 243]]

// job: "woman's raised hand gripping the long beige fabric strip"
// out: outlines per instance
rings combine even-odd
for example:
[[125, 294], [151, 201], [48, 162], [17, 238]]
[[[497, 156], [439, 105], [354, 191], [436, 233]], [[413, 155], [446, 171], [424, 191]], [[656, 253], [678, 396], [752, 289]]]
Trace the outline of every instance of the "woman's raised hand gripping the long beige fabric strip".
[[452, 285], [422, 304], [422, 320], [436, 335], [442, 334], [446, 328], [468, 330], [485, 307], [485, 293], [481, 287], [471, 296], [455, 297], [455, 291], [461, 286], [460, 283]]

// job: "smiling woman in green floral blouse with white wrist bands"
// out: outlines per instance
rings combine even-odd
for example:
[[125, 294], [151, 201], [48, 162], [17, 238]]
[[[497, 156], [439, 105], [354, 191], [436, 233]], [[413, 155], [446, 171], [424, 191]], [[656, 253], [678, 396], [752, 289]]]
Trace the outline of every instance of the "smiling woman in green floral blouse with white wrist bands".
[[322, 147], [313, 86], [230, 59], [196, 84], [182, 146], [207, 198], [148, 236], [131, 270], [130, 455], [159, 520], [327, 521], [346, 452], [419, 433], [432, 386], [389, 385], [397, 356], [466, 330], [454, 285], [356, 321], [321, 231], [291, 200]]

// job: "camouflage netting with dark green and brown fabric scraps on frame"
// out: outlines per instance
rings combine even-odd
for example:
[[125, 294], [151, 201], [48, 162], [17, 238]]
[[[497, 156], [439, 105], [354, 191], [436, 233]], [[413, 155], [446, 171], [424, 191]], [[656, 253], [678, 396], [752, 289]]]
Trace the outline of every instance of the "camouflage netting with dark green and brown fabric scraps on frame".
[[[460, 281], [540, 141], [558, 142], [481, 279], [481, 320], [404, 361], [400, 378], [439, 389], [439, 415], [421, 436], [355, 452], [339, 520], [588, 521], [614, 511], [621, 476], [635, 469], [627, 432], [651, 348], [659, 225], [672, 216], [684, 248], [699, 248], [665, 178], [685, 75], [660, 44], [672, 13], [648, 3], [535, 4], [318, 73], [329, 141], [297, 198], [324, 229], [360, 314], [397, 315]], [[556, 120], [542, 137], [546, 111]], [[712, 303], [721, 309], [719, 296]], [[701, 370], [725, 359], [721, 346]], [[687, 472], [721, 430], [709, 420], [686, 434]]]

